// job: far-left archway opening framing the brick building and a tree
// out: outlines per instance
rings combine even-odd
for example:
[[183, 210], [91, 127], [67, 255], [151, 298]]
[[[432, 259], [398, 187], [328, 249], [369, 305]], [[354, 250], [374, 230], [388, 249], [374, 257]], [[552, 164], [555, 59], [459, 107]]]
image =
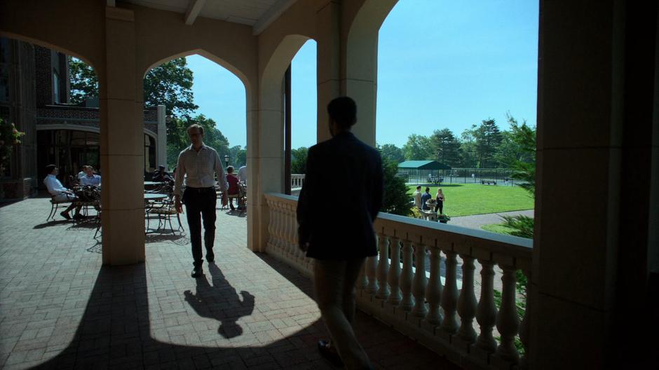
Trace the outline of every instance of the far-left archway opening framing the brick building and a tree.
[[38, 40], [0, 37], [0, 118], [24, 133], [1, 166], [3, 198], [45, 192], [48, 164], [69, 187], [82, 165], [100, 167], [98, 78], [79, 57]]

